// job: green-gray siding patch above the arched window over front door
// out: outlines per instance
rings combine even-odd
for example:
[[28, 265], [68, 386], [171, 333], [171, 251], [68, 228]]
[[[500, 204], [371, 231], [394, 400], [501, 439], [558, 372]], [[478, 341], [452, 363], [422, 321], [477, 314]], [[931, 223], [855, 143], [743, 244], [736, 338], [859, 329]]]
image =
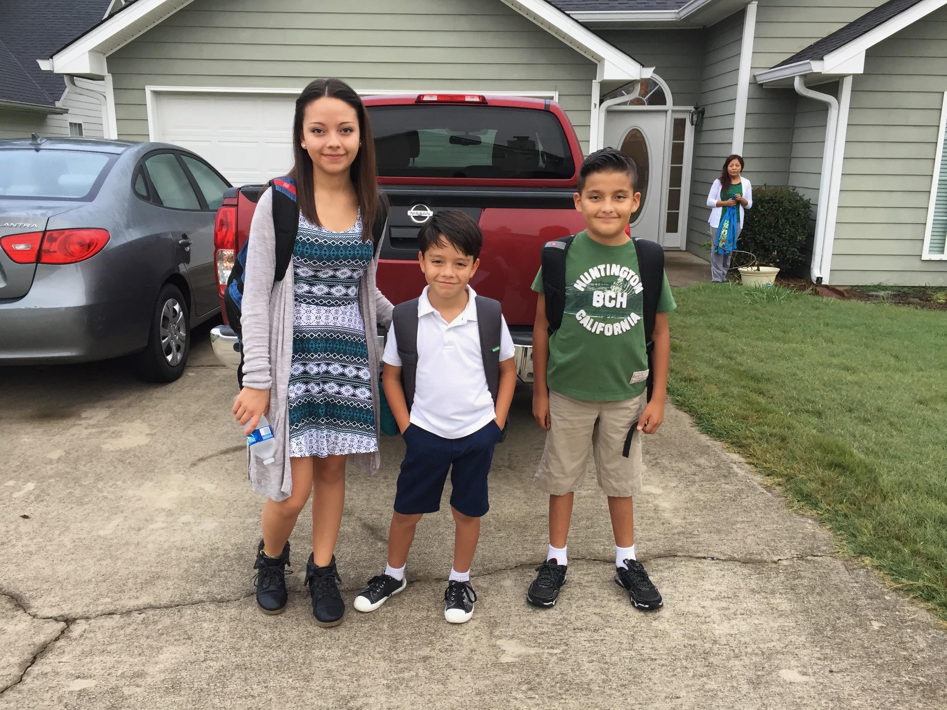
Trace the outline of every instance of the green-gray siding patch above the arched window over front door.
[[653, 66], [670, 88], [675, 106], [694, 106], [700, 100], [704, 62], [701, 29], [596, 30], [603, 40], [644, 66]]

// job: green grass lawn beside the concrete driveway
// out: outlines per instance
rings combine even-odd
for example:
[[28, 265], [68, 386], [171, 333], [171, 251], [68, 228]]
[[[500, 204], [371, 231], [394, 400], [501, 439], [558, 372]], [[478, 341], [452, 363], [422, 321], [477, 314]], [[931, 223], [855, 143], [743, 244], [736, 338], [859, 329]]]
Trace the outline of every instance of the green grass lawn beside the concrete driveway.
[[671, 398], [947, 619], [947, 312], [750, 291], [674, 290]]

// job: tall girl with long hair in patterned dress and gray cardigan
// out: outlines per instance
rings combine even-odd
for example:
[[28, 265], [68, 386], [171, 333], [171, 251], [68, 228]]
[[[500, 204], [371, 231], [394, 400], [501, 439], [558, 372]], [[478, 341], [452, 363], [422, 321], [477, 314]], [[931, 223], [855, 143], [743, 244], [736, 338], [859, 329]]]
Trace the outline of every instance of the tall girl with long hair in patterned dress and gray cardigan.
[[290, 177], [299, 208], [293, 257], [274, 282], [273, 191], [288, 188], [282, 181], [262, 193], [250, 226], [243, 388], [233, 412], [247, 431], [268, 414], [279, 442], [269, 465], [250, 456], [253, 488], [269, 498], [254, 565], [259, 608], [279, 613], [286, 606], [289, 537], [312, 492], [306, 584], [316, 623], [335, 626], [345, 612], [334, 549], [346, 463], [351, 458], [369, 471], [380, 464], [375, 333], [379, 323], [390, 323], [391, 304], [375, 286], [372, 224], [384, 198], [365, 105], [348, 84], [319, 79], [303, 89], [293, 137]]

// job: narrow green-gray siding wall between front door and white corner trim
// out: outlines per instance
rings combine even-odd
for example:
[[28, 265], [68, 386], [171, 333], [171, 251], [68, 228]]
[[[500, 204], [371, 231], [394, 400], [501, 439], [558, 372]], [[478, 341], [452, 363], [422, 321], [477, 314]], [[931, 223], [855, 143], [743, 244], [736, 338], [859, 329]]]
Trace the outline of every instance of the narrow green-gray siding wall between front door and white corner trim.
[[688, 251], [704, 258], [709, 258], [709, 255], [701, 245], [710, 239], [707, 193], [720, 174], [720, 167], [724, 158], [730, 154], [733, 143], [742, 36], [741, 11], [709, 27], [704, 39], [698, 103], [706, 108], [706, 114], [694, 134], [687, 243]]

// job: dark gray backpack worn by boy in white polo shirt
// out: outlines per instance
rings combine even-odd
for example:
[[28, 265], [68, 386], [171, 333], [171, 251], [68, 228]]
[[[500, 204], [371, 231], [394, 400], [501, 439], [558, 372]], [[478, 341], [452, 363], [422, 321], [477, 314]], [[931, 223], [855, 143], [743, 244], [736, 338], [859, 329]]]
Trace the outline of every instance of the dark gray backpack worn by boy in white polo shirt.
[[[414, 403], [415, 383], [418, 379], [418, 300], [412, 298], [395, 306], [391, 313], [391, 325], [395, 328], [398, 355], [402, 359], [402, 389], [404, 401], [411, 411]], [[487, 388], [496, 406], [500, 389], [500, 335], [503, 328], [503, 310], [499, 301], [485, 296], [476, 297], [476, 324], [480, 331], [480, 354], [483, 371], [487, 376]], [[508, 424], [509, 426], [509, 424]], [[504, 437], [506, 427], [504, 427]], [[501, 441], [503, 438], [501, 437]]]

